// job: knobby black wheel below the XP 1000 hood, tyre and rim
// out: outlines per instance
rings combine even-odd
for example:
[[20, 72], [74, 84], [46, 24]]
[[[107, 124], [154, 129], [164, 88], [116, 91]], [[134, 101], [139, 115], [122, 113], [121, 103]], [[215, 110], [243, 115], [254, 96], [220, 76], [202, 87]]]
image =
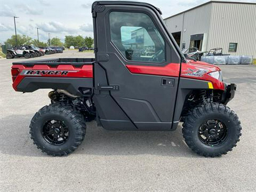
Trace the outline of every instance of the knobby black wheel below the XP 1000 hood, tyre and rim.
[[183, 137], [194, 152], [203, 156], [221, 156], [240, 141], [238, 116], [223, 104], [207, 103], [195, 107], [183, 123]]

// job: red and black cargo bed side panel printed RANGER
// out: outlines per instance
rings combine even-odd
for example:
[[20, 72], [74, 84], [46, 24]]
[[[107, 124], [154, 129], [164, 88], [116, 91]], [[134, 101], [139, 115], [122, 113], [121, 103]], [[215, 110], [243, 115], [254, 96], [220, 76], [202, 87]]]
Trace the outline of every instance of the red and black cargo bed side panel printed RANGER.
[[[13, 88], [20, 92], [34, 92], [41, 88], [64, 89], [73, 95], [81, 96], [84, 88], [93, 88], [92, 65], [75, 67], [73, 65], [13, 65], [19, 71], [13, 77]], [[88, 89], [87, 89], [88, 90]]]

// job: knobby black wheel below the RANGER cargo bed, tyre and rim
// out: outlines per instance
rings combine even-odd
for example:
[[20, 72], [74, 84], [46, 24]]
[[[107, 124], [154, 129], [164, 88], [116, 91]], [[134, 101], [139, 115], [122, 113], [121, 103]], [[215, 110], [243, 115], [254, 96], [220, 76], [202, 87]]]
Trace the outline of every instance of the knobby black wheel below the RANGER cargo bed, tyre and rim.
[[50, 104], [40, 109], [30, 123], [34, 144], [42, 152], [62, 156], [73, 152], [83, 141], [86, 125], [73, 106]]

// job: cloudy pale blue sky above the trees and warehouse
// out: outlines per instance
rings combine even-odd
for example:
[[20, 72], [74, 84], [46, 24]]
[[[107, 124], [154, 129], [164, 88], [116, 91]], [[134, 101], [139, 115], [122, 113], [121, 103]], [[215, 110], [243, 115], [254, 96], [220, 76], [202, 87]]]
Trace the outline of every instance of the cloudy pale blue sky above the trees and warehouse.
[[[136, 0], [133, 0], [136, 1]], [[209, 0], [144, 0], [162, 11], [162, 17], [174, 15]], [[234, 1], [234, 0], [233, 0]], [[256, 2], [256, 0], [242, 0]], [[48, 33], [64, 42], [66, 35], [93, 37], [90, 0], [0, 0], [0, 43], [13, 34], [16, 18], [17, 34], [46, 42]], [[241, 1], [240, 1], [241, 2]]]

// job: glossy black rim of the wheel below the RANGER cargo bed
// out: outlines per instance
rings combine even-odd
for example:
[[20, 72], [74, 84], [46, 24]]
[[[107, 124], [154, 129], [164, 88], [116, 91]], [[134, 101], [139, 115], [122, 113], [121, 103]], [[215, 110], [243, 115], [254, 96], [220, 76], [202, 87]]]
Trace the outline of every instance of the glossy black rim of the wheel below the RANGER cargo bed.
[[61, 145], [68, 140], [69, 129], [64, 121], [51, 119], [44, 124], [42, 135], [47, 143]]

